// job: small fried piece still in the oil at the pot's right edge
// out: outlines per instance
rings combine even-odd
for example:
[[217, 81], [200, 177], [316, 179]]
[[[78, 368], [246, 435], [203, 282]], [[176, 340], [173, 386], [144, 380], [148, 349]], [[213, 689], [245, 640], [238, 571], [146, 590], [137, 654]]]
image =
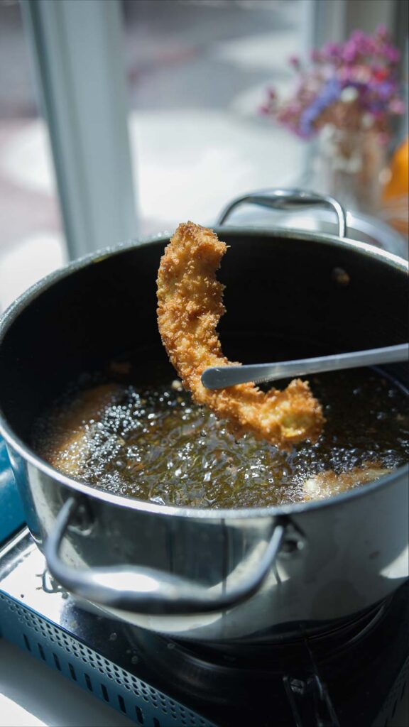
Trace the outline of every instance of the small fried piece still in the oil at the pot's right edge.
[[333, 470], [320, 472], [310, 477], [303, 483], [305, 499], [325, 499], [333, 497], [340, 492], [350, 490], [357, 485], [365, 485], [368, 482], [378, 480], [380, 477], [389, 474], [392, 470], [381, 467], [378, 462], [368, 462], [363, 467], [353, 467], [348, 472], [337, 475]]

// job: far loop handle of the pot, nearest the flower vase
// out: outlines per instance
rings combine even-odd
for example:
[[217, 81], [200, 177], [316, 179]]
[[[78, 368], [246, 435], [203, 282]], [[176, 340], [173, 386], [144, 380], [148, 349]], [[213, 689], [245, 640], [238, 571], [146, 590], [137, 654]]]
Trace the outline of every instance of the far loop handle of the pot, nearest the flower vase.
[[344, 207], [333, 197], [309, 192], [303, 189], [266, 189], [237, 197], [223, 209], [217, 225], [226, 223], [231, 212], [242, 204], [256, 204], [270, 209], [293, 209], [300, 206], [331, 207], [338, 217], [338, 236], [346, 236], [346, 214]]

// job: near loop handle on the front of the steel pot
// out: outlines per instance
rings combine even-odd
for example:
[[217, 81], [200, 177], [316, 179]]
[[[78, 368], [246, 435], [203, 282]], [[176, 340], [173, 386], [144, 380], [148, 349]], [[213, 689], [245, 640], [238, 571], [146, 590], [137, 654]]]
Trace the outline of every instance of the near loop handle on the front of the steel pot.
[[274, 518], [271, 537], [256, 569], [228, 593], [215, 595], [207, 588], [164, 571], [129, 564], [76, 569], [60, 559], [60, 545], [82, 507], [76, 497], [66, 500], [44, 545], [50, 573], [71, 593], [100, 606], [140, 614], [204, 614], [237, 606], [257, 593], [277, 558], [287, 528], [287, 518]]

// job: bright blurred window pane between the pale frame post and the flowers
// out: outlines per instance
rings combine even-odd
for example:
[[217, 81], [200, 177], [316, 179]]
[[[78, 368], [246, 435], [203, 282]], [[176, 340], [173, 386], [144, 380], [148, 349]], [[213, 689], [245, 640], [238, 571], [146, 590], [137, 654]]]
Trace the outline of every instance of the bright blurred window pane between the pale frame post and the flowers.
[[303, 142], [261, 116], [293, 79], [303, 0], [124, 1], [141, 229], [211, 223], [238, 194], [290, 185]]

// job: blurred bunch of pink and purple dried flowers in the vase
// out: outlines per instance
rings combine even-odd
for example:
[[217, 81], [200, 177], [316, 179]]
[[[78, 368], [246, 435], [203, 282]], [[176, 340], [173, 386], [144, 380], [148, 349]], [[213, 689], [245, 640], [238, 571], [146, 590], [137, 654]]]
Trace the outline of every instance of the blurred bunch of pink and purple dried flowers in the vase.
[[261, 113], [302, 138], [311, 137], [324, 124], [352, 130], [366, 124], [385, 134], [389, 117], [404, 112], [395, 79], [399, 58], [384, 26], [373, 36], [354, 31], [343, 44], [327, 43], [311, 51], [306, 67], [297, 56], [291, 57], [298, 73], [293, 97], [280, 105], [274, 89], [269, 89]]

